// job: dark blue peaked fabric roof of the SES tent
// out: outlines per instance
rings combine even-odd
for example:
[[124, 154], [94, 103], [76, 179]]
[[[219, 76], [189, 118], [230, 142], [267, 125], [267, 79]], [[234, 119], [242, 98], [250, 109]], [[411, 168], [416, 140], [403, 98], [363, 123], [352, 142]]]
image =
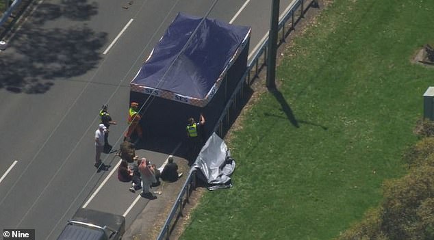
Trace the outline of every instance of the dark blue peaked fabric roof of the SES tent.
[[250, 31], [179, 13], [131, 81], [131, 91], [207, 105], [248, 43]]

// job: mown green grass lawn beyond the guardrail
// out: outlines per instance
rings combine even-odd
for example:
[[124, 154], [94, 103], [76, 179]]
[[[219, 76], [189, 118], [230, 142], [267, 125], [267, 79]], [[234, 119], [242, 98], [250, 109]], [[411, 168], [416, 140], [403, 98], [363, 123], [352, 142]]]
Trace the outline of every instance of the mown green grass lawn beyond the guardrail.
[[335, 0], [285, 52], [285, 101], [263, 94], [234, 133], [233, 188], [207, 192], [181, 239], [333, 239], [378, 206], [433, 85], [410, 62], [433, 13], [433, 0]]

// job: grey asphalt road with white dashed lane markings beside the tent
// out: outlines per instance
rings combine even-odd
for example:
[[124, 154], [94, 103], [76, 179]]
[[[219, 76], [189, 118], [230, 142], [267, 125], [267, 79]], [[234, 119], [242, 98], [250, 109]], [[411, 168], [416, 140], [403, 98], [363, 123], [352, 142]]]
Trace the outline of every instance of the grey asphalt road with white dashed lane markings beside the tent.
[[[178, 12], [204, 16], [213, 3], [54, 0], [31, 7], [0, 53], [0, 229], [35, 228], [36, 239], [56, 239], [81, 206], [126, 215], [128, 228], [148, 200], [129, 193], [116, 172], [110, 176], [114, 154], [103, 155], [107, 171], [93, 167], [99, 110], [108, 103], [118, 121], [110, 128], [118, 146], [129, 81]], [[270, 3], [220, 0], [209, 17], [251, 26], [252, 51], [268, 31]], [[281, 12], [289, 4], [281, 0]], [[157, 165], [168, 156], [141, 154]]]

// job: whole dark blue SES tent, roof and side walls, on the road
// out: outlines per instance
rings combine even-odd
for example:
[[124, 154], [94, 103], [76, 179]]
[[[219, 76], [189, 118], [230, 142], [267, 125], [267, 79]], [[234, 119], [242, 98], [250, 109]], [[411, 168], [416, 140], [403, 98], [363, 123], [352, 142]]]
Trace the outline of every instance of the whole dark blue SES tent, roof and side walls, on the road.
[[[251, 27], [179, 13], [136, 77], [129, 100], [140, 104], [143, 148], [173, 154], [188, 118], [206, 118], [206, 141], [246, 72]], [[182, 145], [184, 146], [184, 145]]]

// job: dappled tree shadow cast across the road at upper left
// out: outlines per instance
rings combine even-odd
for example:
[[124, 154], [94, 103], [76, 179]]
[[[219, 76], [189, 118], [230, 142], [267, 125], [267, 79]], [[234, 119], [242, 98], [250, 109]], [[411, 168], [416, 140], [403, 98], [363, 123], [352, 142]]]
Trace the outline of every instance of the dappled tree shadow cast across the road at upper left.
[[[15, 93], [42, 94], [55, 80], [84, 75], [101, 60], [107, 34], [86, 25], [97, 14], [97, 3], [65, 0], [42, 3], [9, 42], [0, 57], [0, 88]], [[67, 18], [66, 21], [53, 21]], [[59, 23], [71, 26], [47, 27]]]

